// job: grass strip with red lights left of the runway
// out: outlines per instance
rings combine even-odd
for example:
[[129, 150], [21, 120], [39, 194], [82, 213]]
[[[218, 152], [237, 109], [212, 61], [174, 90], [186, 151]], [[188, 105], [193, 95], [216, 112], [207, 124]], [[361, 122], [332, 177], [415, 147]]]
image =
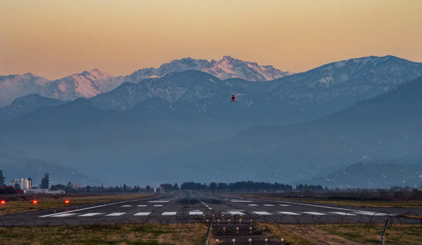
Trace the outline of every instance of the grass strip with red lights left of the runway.
[[[118, 202], [130, 199], [140, 199], [151, 194], [110, 194], [110, 195], [22, 195], [19, 197], [6, 198], [6, 204], [0, 205], [0, 215], [23, 213], [34, 210], [58, 208], [63, 206], [78, 206], [83, 204]], [[37, 204], [32, 200], [37, 199]], [[70, 204], [65, 204], [68, 199]]]

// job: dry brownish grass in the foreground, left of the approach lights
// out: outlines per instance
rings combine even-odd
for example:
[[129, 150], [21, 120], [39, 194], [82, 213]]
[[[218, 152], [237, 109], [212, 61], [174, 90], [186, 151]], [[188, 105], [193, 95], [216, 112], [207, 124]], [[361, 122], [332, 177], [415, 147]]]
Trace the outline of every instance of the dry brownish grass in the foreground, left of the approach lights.
[[0, 244], [203, 244], [203, 224], [0, 227]]

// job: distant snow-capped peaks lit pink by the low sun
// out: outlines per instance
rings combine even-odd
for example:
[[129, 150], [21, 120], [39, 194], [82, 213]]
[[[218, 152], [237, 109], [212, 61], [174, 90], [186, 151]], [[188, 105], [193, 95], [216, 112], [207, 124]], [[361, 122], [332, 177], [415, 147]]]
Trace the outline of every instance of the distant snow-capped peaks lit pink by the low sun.
[[112, 77], [98, 69], [75, 73], [62, 79], [49, 81], [43, 77], [27, 73], [26, 75], [0, 76], [0, 108], [7, 106], [14, 99], [28, 94], [72, 101], [78, 98], [90, 98], [108, 92], [123, 82], [138, 82], [142, 79], [164, 77], [172, 72], [199, 70], [220, 79], [241, 78], [250, 81], [268, 81], [277, 79], [290, 72], [277, 70], [272, 66], [259, 66], [257, 63], [241, 61], [229, 56], [220, 61], [184, 58], [163, 63], [159, 68], [143, 68], [131, 75]]

